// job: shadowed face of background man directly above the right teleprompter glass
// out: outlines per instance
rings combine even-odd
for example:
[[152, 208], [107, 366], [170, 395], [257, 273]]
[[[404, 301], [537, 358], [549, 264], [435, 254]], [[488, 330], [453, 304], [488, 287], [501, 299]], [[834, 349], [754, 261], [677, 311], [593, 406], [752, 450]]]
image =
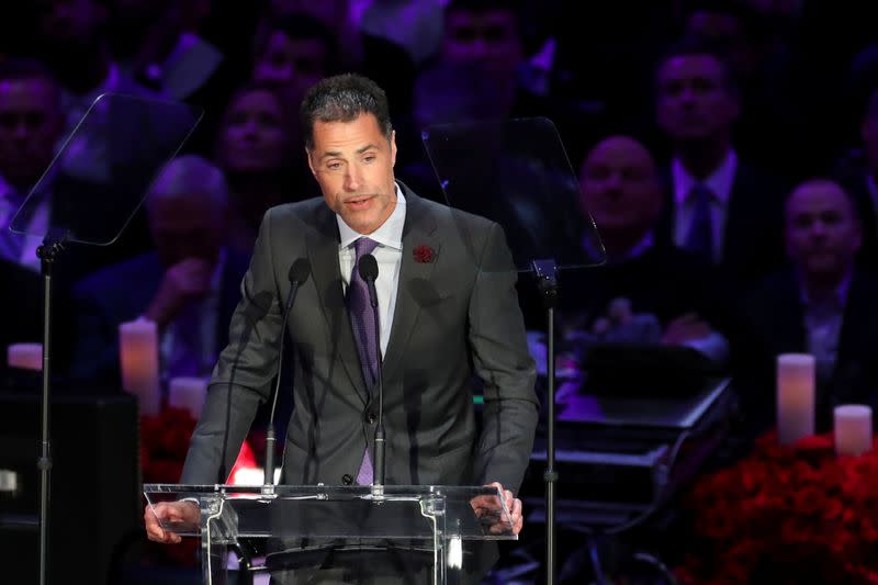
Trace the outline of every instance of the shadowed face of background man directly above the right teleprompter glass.
[[508, 10], [453, 11], [446, 18], [442, 52], [450, 63], [476, 64], [511, 78], [522, 58], [516, 16]]

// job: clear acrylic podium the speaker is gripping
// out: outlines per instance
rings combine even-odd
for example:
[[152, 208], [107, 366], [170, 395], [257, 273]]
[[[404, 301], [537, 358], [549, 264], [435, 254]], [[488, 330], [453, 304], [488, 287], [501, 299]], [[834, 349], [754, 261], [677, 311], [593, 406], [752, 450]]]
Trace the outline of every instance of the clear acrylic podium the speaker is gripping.
[[250, 571], [275, 578], [323, 562], [339, 583], [360, 581], [351, 566], [391, 580], [416, 566], [427, 583], [462, 583], [471, 541], [518, 538], [495, 487], [392, 485], [376, 495], [371, 486], [146, 484], [144, 494], [150, 507], [192, 502], [191, 521], [161, 524], [201, 538], [206, 584], [229, 582], [229, 551], [264, 551]]

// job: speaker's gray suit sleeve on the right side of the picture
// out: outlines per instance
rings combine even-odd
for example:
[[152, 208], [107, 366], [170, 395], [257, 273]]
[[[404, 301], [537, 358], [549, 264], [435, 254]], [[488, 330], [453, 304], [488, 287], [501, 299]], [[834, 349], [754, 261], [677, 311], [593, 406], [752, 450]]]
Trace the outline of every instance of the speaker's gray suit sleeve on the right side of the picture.
[[503, 229], [492, 224], [469, 308], [473, 364], [485, 395], [475, 474], [517, 493], [533, 448], [539, 401], [516, 279]]

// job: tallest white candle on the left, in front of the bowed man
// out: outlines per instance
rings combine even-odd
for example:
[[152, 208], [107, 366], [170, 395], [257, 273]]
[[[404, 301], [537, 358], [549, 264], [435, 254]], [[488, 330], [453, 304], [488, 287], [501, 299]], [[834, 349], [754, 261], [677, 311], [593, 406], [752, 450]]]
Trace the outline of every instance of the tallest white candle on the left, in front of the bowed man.
[[157, 415], [161, 406], [158, 378], [158, 328], [137, 319], [119, 326], [122, 387], [137, 396], [142, 415]]

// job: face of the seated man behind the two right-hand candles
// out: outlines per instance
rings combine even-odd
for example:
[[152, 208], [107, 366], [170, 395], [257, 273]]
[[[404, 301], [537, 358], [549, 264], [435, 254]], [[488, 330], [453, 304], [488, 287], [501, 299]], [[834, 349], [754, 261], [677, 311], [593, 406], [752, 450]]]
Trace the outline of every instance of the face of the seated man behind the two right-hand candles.
[[854, 209], [842, 189], [831, 181], [801, 184], [787, 200], [785, 218], [787, 255], [810, 275], [847, 271], [862, 236]]

